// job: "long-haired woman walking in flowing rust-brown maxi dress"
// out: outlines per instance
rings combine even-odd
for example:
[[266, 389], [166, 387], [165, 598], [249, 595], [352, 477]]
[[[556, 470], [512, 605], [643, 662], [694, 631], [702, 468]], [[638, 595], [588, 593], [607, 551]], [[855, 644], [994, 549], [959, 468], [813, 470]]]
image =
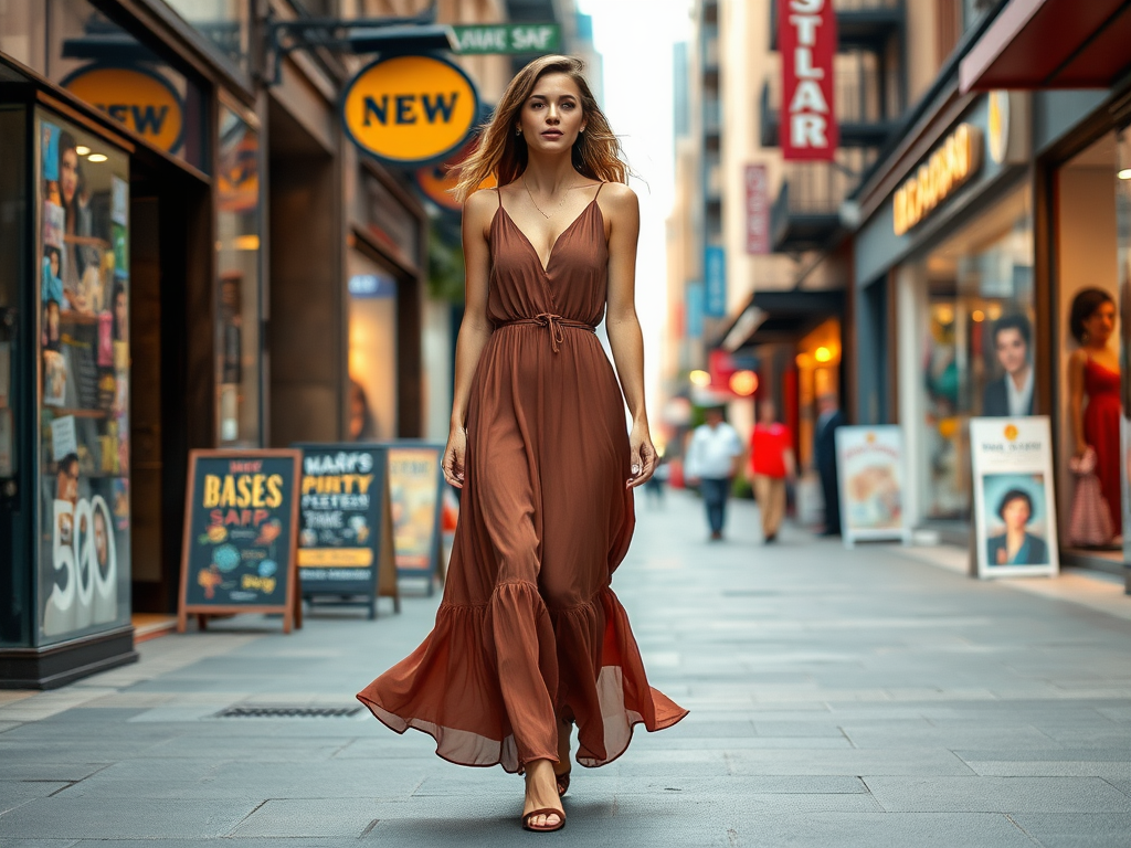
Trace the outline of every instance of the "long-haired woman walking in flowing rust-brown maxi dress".
[[[656, 449], [633, 306], [639, 207], [581, 68], [523, 69], [461, 168], [466, 303], [443, 457], [460, 519], [435, 629], [359, 694], [447, 760], [525, 772], [523, 827], [539, 831], [566, 823], [573, 724], [577, 761], [596, 767], [634, 725], [687, 715], [649, 687], [608, 588]], [[490, 176], [501, 188], [475, 191]], [[620, 387], [594, 335], [606, 305]]]

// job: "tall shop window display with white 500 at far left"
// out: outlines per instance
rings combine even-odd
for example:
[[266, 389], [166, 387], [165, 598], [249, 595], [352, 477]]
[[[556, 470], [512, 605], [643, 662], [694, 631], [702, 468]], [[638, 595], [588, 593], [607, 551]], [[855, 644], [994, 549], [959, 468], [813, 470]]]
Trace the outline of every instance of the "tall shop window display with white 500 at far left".
[[129, 616], [129, 397], [112, 356], [129, 276], [115, 272], [111, 228], [122, 225], [106, 215], [128, 208], [129, 157], [44, 110], [36, 128], [37, 641], [46, 644]]

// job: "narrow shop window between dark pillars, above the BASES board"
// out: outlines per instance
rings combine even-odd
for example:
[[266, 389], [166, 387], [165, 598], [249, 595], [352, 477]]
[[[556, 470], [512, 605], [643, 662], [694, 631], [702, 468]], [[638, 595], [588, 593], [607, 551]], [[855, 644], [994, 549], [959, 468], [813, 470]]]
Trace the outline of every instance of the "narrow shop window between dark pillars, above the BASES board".
[[261, 427], [259, 132], [219, 110], [216, 210], [217, 441], [258, 445]]

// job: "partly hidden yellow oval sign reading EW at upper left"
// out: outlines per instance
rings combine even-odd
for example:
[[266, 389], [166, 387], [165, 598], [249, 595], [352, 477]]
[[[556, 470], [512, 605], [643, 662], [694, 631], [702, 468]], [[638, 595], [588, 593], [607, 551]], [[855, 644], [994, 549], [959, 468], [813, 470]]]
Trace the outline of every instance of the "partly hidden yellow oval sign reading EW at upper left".
[[63, 88], [133, 130], [154, 147], [174, 153], [182, 141], [184, 107], [164, 77], [143, 68], [87, 66]]

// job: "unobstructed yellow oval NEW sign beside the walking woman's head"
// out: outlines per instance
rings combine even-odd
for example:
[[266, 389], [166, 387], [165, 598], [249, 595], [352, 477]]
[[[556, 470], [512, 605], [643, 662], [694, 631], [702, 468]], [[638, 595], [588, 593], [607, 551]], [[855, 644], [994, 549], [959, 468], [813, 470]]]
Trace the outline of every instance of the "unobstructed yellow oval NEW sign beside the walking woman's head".
[[342, 97], [357, 147], [391, 165], [424, 165], [458, 149], [475, 127], [478, 95], [464, 70], [434, 55], [379, 59]]

